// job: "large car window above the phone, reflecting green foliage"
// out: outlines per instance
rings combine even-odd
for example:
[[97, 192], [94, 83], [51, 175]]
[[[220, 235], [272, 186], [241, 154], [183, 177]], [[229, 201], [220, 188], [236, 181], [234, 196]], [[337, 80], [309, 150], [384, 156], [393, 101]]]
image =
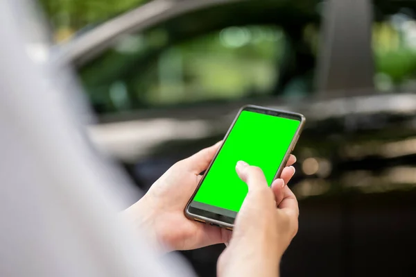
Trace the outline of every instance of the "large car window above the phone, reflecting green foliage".
[[[266, 8], [257, 6], [239, 20], [230, 20], [234, 13], [227, 8], [202, 10], [122, 35], [78, 69], [94, 110], [313, 93], [319, 17], [296, 12], [293, 24]], [[209, 16], [220, 12], [217, 21]]]

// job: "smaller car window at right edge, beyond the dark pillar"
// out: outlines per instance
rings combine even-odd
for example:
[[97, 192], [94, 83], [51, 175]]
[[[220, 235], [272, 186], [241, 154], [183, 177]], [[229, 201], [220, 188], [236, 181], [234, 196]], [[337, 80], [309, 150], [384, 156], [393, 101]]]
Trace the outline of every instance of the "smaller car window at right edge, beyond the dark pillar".
[[375, 6], [372, 47], [374, 84], [379, 92], [416, 89], [416, 7], [383, 2]]

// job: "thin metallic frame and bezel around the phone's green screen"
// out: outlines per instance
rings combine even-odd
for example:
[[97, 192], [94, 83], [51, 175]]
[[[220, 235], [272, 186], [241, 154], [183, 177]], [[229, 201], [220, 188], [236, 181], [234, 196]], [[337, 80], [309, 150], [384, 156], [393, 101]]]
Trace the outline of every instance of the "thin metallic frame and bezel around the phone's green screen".
[[229, 133], [232, 131], [232, 128], [234, 128], [234, 124], [236, 123], [237, 119], [241, 115], [241, 112], [243, 112], [243, 110], [248, 109], [248, 108], [249, 109], [254, 109], [254, 110], [265, 110], [265, 111], [270, 111], [270, 112], [274, 112], [274, 113], [277, 112], [279, 114], [298, 117], [300, 119], [299, 127], [297, 128], [297, 131], [296, 131], [295, 135], [293, 136], [291, 144], [288, 146], [288, 150], [286, 151], [285, 156], [284, 156], [281, 164], [279, 165], [279, 169], [277, 169], [277, 172], [276, 172], [275, 177], [273, 178], [273, 180], [275, 180], [276, 178], [278, 178], [280, 176], [281, 171], [283, 171], [284, 167], [286, 166], [286, 163], [288, 162], [288, 159], [291, 156], [291, 153], [292, 153], [293, 149], [295, 149], [295, 145], [297, 143], [297, 140], [299, 140], [300, 133], [302, 133], [304, 124], [306, 122], [306, 118], [304, 117], [304, 115], [301, 115], [300, 113], [296, 113], [296, 112], [286, 112], [284, 110], [276, 110], [276, 109], [272, 109], [272, 108], [264, 108], [264, 107], [260, 107], [260, 106], [254, 106], [254, 105], [245, 105], [245, 106], [243, 106], [242, 108], [240, 108], [236, 117], [232, 121], [232, 124], [229, 127], [229, 129], [228, 129], [228, 131], [225, 134], [225, 137], [223, 139], [223, 144], [221, 144], [221, 146], [216, 151], [214, 158], [209, 163], [209, 166], [207, 167], [207, 170], [205, 170], [204, 175], [202, 176], [200, 182], [198, 183], [198, 187], [196, 187], [195, 192], [193, 192], [191, 198], [189, 199], [189, 201], [188, 201], [188, 203], [185, 207], [184, 213], [185, 213], [185, 216], [188, 219], [195, 220], [195, 221], [200, 221], [202, 223], [207, 223], [207, 224], [211, 224], [211, 225], [214, 225], [214, 226], [219, 226], [221, 228], [227, 228], [228, 230], [232, 230], [232, 228], [234, 227], [234, 224], [229, 224], [227, 222], [220, 221], [220, 220], [217, 220], [217, 219], [211, 219], [209, 217], [204, 217], [202, 215], [195, 215], [195, 214], [189, 212], [189, 205], [191, 205], [191, 202], [192, 202], [193, 198], [195, 197], [196, 193], [198, 192], [200, 186], [202, 185], [202, 182], [205, 180], [205, 176], [209, 172], [209, 169], [211, 169], [212, 164], [214, 163], [214, 161], [216, 160], [216, 158], [218, 156], [218, 153], [220, 153], [221, 149], [223, 148], [224, 142], [227, 140]]

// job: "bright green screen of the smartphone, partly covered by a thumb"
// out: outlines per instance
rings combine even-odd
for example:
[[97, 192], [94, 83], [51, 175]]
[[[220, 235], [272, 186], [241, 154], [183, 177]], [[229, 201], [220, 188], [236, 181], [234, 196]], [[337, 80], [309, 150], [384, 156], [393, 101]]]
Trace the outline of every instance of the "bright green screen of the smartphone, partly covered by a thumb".
[[248, 192], [236, 174], [243, 160], [263, 170], [271, 185], [300, 121], [243, 110], [193, 201], [238, 212]]

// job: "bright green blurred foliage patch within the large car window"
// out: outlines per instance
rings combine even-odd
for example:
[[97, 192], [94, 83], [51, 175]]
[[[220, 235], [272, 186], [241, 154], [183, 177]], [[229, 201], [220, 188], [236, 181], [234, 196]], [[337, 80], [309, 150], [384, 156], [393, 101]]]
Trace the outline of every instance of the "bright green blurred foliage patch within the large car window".
[[279, 28], [232, 26], [167, 47], [125, 81], [150, 106], [264, 94], [275, 85], [283, 47]]

